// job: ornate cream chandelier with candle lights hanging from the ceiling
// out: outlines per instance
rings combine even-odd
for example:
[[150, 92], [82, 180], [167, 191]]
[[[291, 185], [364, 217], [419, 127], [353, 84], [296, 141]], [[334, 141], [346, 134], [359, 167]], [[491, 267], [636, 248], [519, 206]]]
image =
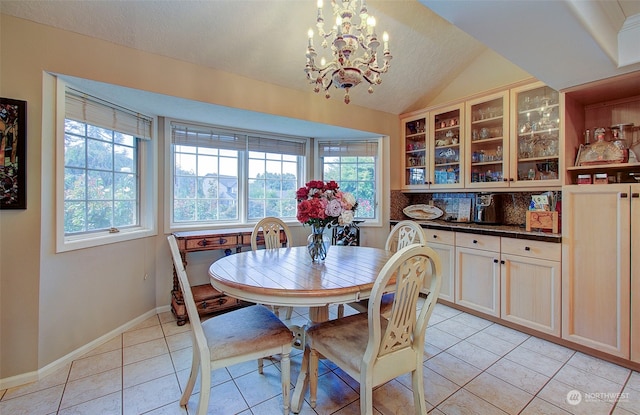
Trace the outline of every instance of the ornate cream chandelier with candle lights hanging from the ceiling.
[[[354, 21], [356, 7], [360, 3], [359, 24]], [[313, 30], [309, 29], [309, 45], [307, 46], [307, 65], [304, 71], [309, 83], [314, 84], [314, 92], [325, 91], [329, 98], [329, 88], [345, 90], [344, 102], [351, 101], [349, 89], [363, 81], [369, 83], [369, 93], [373, 93], [373, 86], [382, 83], [381, 74], [389, 69], [391, 53], [389, 52], [389, 35], [384, 32], [382, 40], [383, 65], [378, 62], [378, 36], [376, 35], [376, 19], [367, 13], [365, 0], [331, 0], [333, 14], [336, 16], [335, 26], [330, 32], [324, 31], [324, 17], [322, 16], [322, 0], [318, 0], [318, 36], [322, 47], [327, 48], [331, 42], [331, 61], [328, 63], [321, 58], [320, 66], [316, 66], [317, 53], [313, 47]], [[356, 17], [357, 20], [357, 17]]]

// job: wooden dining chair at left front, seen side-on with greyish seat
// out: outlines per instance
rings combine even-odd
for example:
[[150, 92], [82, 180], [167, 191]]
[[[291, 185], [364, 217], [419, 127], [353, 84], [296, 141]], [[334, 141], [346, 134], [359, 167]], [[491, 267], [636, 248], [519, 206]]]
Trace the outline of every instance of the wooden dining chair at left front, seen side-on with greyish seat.
[[187, 406], [196, 378], [200, 373], [200, 397], [196, 413], [206, 415], [211, 393], [212, 370], [257, 359], [258, 372], [262, 374], [262, 359], [279, 354], [281, 355], [283, 412], [287, 415], [290, 408], [291, 387], [289, 359], [293, 342], [291, 330], [271, 310], [262, 305], [229, 311], [201, 322], [176, 239], [173, 235], [169, 235], [167, 240], [182, 289], [193, 340], [191, 373], [180, 399], [180, 405]]

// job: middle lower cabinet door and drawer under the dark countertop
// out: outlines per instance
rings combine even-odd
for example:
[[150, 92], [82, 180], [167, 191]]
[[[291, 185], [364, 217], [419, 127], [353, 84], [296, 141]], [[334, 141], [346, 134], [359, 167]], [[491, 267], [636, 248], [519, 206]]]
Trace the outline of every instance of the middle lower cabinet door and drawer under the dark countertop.
[[455, 303], [500, 316], [500, 237], [456, 232]]

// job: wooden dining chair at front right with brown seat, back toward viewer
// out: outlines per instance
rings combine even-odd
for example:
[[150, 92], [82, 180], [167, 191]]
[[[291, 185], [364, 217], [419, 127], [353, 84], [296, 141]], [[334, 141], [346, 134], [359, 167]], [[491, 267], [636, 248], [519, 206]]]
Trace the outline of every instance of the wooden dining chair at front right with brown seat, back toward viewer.
[[[391, 315], [382, 318], [380, 305], [389, 280], [396, 285]], [[420, 289], [429, 294], [418, 305]], [[373, 388], [411, 373], [416, 414], [424, 415], [422, 364], [425, 332], [442, 282], [440, 258], [431, 248], [410, 245], [396, 252], [380, 270], [368, 312], [318, 323], [307, 330], [305, 359], [309, 362], [310, 403], [316, 406], [318, 359], [323, 356], [360, 382], [360, 413], [373, 413]]]

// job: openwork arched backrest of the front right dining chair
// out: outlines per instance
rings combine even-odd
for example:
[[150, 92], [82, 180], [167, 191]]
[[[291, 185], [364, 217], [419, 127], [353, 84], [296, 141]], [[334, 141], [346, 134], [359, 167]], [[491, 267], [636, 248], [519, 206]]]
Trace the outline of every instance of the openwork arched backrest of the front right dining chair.
[[[389, 319], [384, 319], [384, 327], [381, 325], [380, 303], [389, 280], [394, 276], [393, 306]], [[427, 279], [430, 280], [429, 293], [418, 313], [418, 295]], [[362, 371], [369, 371], [374, 379], [393, 379], [422, 364], [425, 331], [441, 283], [440, 257], [425, 245], [406, 246], [387, 261], [369, 298], [369, 343]]]

